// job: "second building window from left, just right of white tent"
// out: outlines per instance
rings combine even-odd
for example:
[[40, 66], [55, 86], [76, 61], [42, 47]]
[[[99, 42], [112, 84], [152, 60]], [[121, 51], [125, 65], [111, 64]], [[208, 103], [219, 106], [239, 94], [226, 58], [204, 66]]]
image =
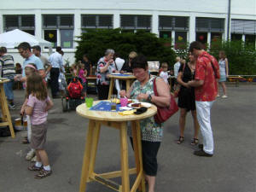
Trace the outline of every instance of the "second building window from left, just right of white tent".
[[51, 42], [54, 48], [58, 45], [73, 48], [73, 23], [73, 15], [43, 15], [44, 39]]

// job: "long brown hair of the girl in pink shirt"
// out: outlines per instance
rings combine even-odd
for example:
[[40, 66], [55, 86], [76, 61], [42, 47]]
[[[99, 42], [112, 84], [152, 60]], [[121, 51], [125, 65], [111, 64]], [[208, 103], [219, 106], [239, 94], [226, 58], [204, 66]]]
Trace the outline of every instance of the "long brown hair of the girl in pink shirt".
[[43, 78], [38, 73], [32, 73], [26, 79], [26, 97], [36, 96], [38, 100], [45, 100], [48, 96], [46, 85]]

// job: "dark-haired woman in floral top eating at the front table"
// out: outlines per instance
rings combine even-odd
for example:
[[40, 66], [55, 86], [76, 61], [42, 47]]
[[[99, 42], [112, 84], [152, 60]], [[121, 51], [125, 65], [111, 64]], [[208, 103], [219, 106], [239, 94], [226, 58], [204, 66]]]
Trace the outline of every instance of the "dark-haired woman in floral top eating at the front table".
[[[149, 77], [148, 62], [143, 55], [131, 61], [131, 69], [137, 80], [131, 85], [130, 90], [120, 91], [120, 96], [137, 99], [141, 102], [151, 102], [160, 107], [170, 104], [170, 91], [163, 79], [156, 79], [156, 88], [159, 96], [154, 96], [154, 78]], [[143, 146], [143, 170], [148, 181], [148, 192], [154, 192], [155, 176], [157, 172], [156, 155], [163, 137], [163, 125], [154, 122], [154, 117], [140, 121]], [[131, 128], [128, 129], [131, 137]], [[132, 140], [132, 138], [131, 138]]]

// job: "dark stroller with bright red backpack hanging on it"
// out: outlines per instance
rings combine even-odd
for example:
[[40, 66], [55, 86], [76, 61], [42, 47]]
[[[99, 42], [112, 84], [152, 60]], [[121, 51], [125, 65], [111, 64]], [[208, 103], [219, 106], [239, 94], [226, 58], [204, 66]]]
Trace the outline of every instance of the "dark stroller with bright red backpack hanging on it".
[[67, 81], [66, 96], [62, 96], [62, 111], [75, 110], [80, 104], [84, 102], [83, 85], [79, 78], [75, 77]]

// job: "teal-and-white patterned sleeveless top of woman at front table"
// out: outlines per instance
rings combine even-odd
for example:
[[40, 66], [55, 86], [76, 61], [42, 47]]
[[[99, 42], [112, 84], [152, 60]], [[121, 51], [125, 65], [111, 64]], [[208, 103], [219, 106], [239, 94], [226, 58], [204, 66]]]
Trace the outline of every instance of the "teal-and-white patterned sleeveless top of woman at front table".
[[[137, 99], [137, 96], [141, 93], [153, 95], [154, 96], [154, 87], [153, 81], [154, 78], [148, 80], [146, 84], [141, 86], [141, 83], [136, 80], [131, 86], [131, 99]], [[142, 101], [148, 102], [148, 101]], [[154, 122], [154, 116], [140, 120], [142, 140], [148, 142], [161, 142], [163, 137], [163, 124], [157, 124]], [[128, 126], [128, 135], [131, 137], [131, 126]]]

